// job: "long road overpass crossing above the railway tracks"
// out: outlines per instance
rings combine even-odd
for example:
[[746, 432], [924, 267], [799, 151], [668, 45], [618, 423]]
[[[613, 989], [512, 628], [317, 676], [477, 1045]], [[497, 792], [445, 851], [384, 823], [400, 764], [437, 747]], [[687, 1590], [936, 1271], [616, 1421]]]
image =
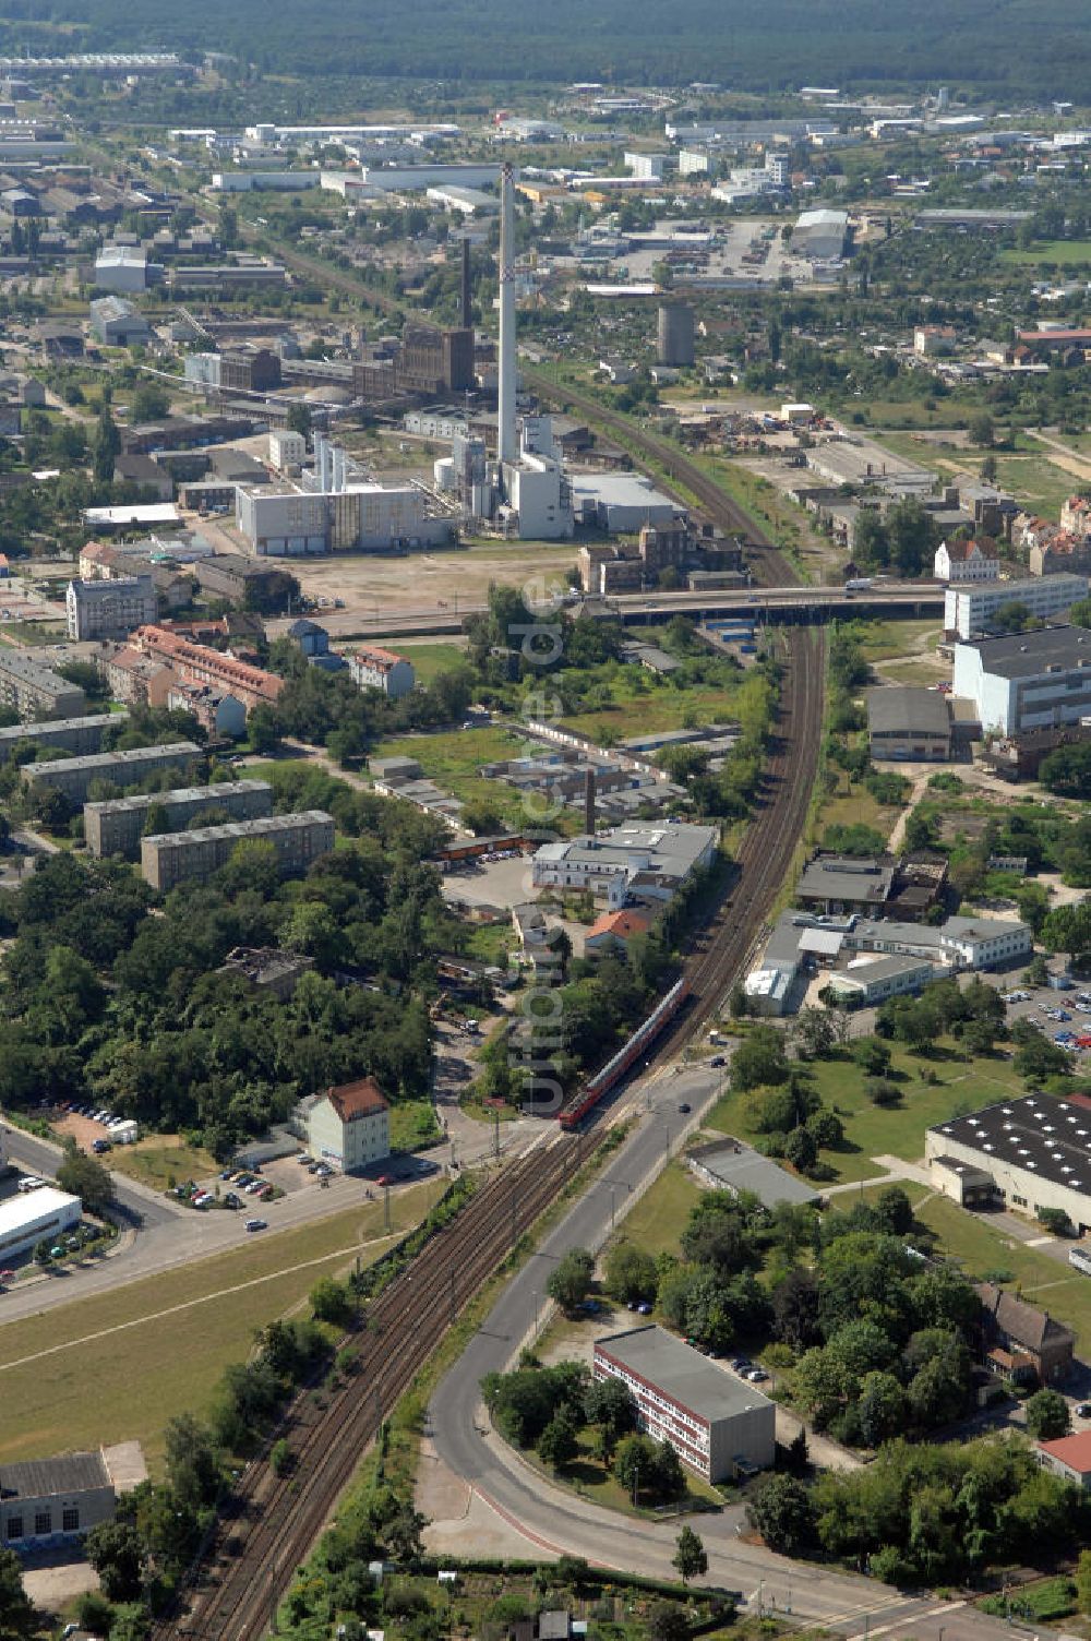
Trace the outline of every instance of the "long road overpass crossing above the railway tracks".
[[[689, 615], [696, 622], [743, 619], [776, 625], [820, 625], [848, 620], [853, 615], [912, 619], [943, 614], [945, 587], [937, 581], [883, 581], [874, 587], [847, 592], [843, 587], [717, 587], [701, 592], [628, 592], [609, 599], [559, 604], [576, 615], [581, 609], [609, 614], [627, 627], [651, 625], [671, 615]], [[322, 612], [331, 637], [386, 638], [427, 637], [463, 632], [468, 615], [482, 614], [487, 604], [458, 597], [433, 604], [376, 609], [372, 615]], [[269, 622], [269, 630], [279, 630]], [[284, 624], [287, 627], [287, 622]]]

